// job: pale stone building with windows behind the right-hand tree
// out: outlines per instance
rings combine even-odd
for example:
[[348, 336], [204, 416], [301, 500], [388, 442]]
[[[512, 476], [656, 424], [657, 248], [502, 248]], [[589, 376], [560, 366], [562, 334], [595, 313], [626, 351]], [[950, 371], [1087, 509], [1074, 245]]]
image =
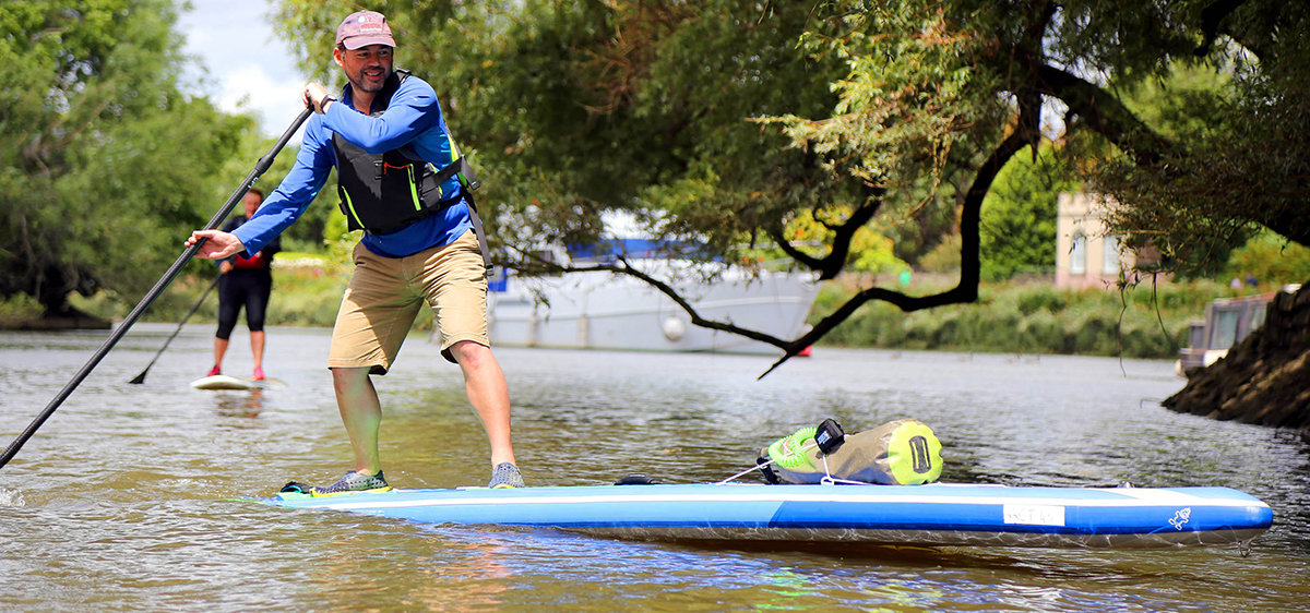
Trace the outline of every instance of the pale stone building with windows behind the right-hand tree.
[[1106, 215], [1116, 204], [1099, 194], [1060, 194], [1056, 219], [1056, 287], [1115, 287], [1137, 255], [1108, 234]]

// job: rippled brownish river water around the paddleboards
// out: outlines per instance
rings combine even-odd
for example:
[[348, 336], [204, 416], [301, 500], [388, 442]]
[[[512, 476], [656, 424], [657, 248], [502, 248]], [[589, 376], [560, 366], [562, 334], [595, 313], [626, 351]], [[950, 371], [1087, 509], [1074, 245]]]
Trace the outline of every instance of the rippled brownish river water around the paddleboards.
[[[139, 325], [0, 470], [0, 610], [1306, 610], [1310, 443], [1178, 415], [1167, 362], [817, 348], [769, 358], [496, 348], [529, 485], [631, 473], [717, 481], [832, 417], [917, 418], [943, 481], [1229, 486], [1273, 528], [1237, 548], [892, 549], [631, 542], [557, 530], [424, 527], [288, 511], [287, 481], [350, 468], [324, 360], [329, 331], [270, 329], [286, 386], [199, 392], [212, 329]], [[106, 333], [0, 333], [0, 444]], [[225, 369], [250, 368], [244, 329]], [[485, 485], [486, 440], [458, 369], [411, 337], [376, 379], [397, 487]], [[755, 477], [744, 479], [753, 481]]]

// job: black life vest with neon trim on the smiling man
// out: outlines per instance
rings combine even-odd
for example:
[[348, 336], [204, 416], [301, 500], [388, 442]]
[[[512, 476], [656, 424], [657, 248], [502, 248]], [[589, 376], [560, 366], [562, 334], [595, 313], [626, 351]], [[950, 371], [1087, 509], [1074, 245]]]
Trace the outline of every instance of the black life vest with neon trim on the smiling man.
[[[407, 71], [400, 68], [392, 73], [377, 93], [372, 117], [386, 110], [396, 90], [409, 76]], [[345, 96], [343, 89], [342, 100]], [[441, 193], [441, 183], [451, 177], [458, 177], [465, 195], [472, 196], [469, 193], [479, 187], [473, 168], [464, 156], [438, 170], [407, 144], [375, 155], [350, 144], [335, 132], [331, 144], [337, 152], [341, 212], [346, 215], [351, 231], [386, 234], [460, 202], [458, 196], [444, 198], [447, 194]]]

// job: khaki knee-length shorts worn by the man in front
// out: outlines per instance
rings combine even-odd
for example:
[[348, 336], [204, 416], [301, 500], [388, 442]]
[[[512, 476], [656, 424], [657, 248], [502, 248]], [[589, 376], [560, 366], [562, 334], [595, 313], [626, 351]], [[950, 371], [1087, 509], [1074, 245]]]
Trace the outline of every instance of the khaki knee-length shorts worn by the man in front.
[[426, 301], [441, 334], [441, 355], [455, 362], [460, 341], [487, 338], [487, 276], [473, 231], [455, 242], [385, 258], [355, 245], [355, 274], [341, 299], [328, 368], [369, 367], [386, 375]]

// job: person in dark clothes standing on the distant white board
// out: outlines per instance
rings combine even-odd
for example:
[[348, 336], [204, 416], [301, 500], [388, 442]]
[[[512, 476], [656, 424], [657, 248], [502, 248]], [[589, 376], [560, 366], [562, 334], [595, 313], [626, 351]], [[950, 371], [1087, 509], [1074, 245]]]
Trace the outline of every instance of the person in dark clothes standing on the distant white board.
[[[223, 224], [224, 232], [232, 232], [254, 216], [263, 202], [263, 191], [252, 187], [241, 200], [245, 215], [238, 215]], [[272, 255], [282, 250], [282, 241], [274, 237], [253, 255], [236, 254], [219, 261], [219, 330], [214, 334], [214, 368], [208, 376], [223, 373], [223, 356], [228, 352], [232, 329], [237, 325], [241, 306], [246, 309], [246, 326], [250, 327], [250, 352], [254, 354], [254, 380], [263, 381], [263, 317], [269, 310], [269, 296], [272, 295]]]

